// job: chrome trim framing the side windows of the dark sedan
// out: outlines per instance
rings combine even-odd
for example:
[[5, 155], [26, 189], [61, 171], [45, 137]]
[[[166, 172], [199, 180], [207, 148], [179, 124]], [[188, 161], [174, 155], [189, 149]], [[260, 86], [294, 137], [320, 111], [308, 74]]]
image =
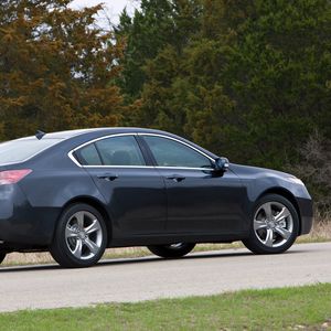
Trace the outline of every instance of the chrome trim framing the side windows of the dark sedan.
[[164, 166], [82, 166], [78, 160], [74, 157], [74, 152], [87, 145], [97, 142], [99, 140], [104, 140], [104, 139], [108, 139], [108, 138], [113, 138], [113, 137], [121, 137], [121, 136], [154, 136], [154, 137], [161, 137], [161, 138], [166, 138], [166, 139], [170, 139], [173, 141], [177, 141], [179, 143], [182, 143], [191, 149], [193, 149], [194, 151], [196, 151], [197, 153], [204, 156], [205, 158], [210, 159], [212, 161], [212, 163], [215, 162], [215, 160], [213, 158], [211, 158], [210, 156], [207, 156], [206, 153], [204, 153], [203, 151], [199, 150], [197, 148], [191, 146], [190, 143], [186, 143], [184, 141], [181, 141], [180, 139], [173, 138], [173, 137], [169, 137], [169, 136], [164, 136], [164, 135], [159, 135], [159, 134], [146, 134], [146, 132], [125, 132], [125, 134], [114, 134], [114, 135], [108, 135], [108, 136], [104, 136], [104, 137], [99, 137], [99, 138], [95, 138], [93, 140], [89, 140], [87, 142], [84, 142], [77, 147], [75, 147], [74, 149], [72, 149], [67, 156], [68, 158], [79, 168], [87, 168], [87, 169], [94, 169], [94, 168], [124, 168], [124, 169], [173, 169], [173, 170], [200, 170], [200, 171], [213, 171], [213, 168], [190, 168], [190, 167], [164, 167]]

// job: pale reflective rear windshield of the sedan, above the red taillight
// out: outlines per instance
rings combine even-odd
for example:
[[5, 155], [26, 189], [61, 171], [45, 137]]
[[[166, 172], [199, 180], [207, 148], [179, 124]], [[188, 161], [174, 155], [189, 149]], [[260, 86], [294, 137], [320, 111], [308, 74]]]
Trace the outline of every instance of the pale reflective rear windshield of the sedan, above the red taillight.
[[0, 143], [0, 166], [22, 162], [60, 141], [62, 139], [23, 138], [2, 142]]

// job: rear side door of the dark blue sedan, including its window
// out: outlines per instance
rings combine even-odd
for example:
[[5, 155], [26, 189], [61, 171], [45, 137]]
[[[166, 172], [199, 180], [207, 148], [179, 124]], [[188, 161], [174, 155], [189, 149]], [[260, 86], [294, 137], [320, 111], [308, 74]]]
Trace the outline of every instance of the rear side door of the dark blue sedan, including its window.
[[106, 200], [115, 238], [162, 233], [166, 226], [164, 182], [135, 136], [114, 135], [75, 151]]

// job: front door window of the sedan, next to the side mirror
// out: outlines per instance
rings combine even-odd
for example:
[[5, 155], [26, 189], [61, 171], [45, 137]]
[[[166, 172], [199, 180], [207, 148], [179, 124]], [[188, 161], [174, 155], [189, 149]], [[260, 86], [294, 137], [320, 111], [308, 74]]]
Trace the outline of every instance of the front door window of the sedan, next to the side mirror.
[[212, 168], [209, 158], [172, 139], [145, 136], [159, 167]]

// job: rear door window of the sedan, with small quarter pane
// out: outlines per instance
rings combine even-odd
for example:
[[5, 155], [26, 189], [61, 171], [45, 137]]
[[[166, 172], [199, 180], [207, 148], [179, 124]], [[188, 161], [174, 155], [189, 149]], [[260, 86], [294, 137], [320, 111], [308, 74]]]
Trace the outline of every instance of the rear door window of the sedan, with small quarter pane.
[[146, 166], [134, 136], [98, 140], [75, 152], [83, 166]]

